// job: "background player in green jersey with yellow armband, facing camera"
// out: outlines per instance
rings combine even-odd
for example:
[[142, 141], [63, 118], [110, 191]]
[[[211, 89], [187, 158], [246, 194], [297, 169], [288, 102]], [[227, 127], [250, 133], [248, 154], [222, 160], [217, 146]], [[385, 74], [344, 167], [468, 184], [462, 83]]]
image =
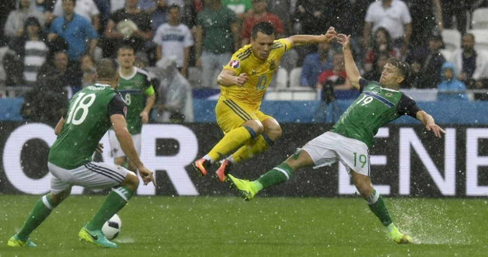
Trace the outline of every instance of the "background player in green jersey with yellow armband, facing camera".
[[[121, 93], [122, 99], [127, 104], [127, 129], [129, 130], [137, 154], [141, 154], [141, 130], [142, 124], [149, 121], [149, 113], [154, 105], [156, 95], [154, 88], [149, 82], [149, 75], [146, 71], [134, 66], [136, 56], [134, 48], [130, 45], [122, 45], [117, 51], [117, 60], [120, 64], [120, 79], [117, 91]], [[110, 155], [114, 163], [127, 166], [127, 169], [136, 172], [136, 166], [121, 149], [117, 137], [112, 129], [108, 131], [110, 139]]]

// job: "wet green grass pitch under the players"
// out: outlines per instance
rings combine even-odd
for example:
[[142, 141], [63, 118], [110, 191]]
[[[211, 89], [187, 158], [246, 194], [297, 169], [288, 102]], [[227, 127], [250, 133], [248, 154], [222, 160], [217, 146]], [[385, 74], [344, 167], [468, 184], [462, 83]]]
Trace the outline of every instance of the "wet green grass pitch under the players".
[[0, 257], [64, 256], [487, 256], [488, 201], [387, 198], [413, 245], [397, 245], [359, 198], [134, 197], [122, 209], [118, 249], [78, 240], [104, 196], [71, 196], [10, 248], [39, 196], [0, 196]]

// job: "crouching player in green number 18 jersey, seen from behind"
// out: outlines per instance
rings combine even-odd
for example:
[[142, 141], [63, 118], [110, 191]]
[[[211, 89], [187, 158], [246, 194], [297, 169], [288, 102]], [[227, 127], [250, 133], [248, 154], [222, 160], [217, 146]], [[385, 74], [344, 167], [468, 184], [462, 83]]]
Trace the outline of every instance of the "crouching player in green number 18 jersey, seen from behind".
[[29, 235], [77, 185], [96, 191], [113, 188], [95, 217], [80, 230], [79, 237], [98, 246], [117, 248], [103, 235], [102, 226], [127, 204], [139, 186], [139, 178], [121, 166], [92, 160], [93, 153], [102, 150], [99, 141], [112, 125], [122, 151], [136, 165], [144, 185], [156, 184], [153, 173], [139, 159], [127, 130], [127, 107], [115, 90], [119, 79], [117, 62], [100, 60], [97, 78], [96, 84], [83, 88], [70, 99], [66, 114], [56, 125], [54, 132], [58, 138], [48, 157], [51, 192], [35, 203], [19, 233], [8, 240], [8, 246], [35, 247]]

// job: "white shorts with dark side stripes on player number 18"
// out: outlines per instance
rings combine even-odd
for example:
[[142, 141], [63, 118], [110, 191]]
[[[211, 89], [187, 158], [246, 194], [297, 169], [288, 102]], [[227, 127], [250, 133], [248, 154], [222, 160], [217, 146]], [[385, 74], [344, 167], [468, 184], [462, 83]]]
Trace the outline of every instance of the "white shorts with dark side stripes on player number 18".
[[55, 195], [71, 186], [82, 186], [100, 191], [118, 186], [129, 172], [124, 167], [108, 162], [89, 162], [78, 168], [67, 170], [47, 163], [51, 178], [51, 192]]

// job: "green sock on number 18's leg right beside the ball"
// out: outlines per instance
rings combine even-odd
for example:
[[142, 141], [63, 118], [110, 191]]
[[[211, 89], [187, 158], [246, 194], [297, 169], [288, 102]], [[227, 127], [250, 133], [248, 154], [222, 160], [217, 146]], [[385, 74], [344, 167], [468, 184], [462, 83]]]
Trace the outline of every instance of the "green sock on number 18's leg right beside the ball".
[[127, 204], [127, 201], [132, 197], [134, 191], [126, 186], [118, 186], [114, 188], [105, 198], [105, 201], [100, 207], [98, 213], [93, 219], [86, 224], [88, 230], [102, 229], [103, 223], [110, 219], [114, 214], [118, 213]]

